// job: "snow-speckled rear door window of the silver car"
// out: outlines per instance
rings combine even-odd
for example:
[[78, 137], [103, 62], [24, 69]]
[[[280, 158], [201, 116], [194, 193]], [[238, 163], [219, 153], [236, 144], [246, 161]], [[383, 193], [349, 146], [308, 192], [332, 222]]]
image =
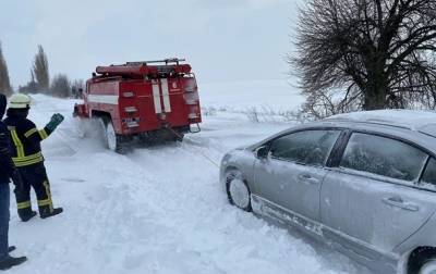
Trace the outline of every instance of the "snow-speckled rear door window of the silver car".
[[340, 166], [412, 182], [420, 176], [426, 160], [426, 153], [405, 142], [354, 133]]

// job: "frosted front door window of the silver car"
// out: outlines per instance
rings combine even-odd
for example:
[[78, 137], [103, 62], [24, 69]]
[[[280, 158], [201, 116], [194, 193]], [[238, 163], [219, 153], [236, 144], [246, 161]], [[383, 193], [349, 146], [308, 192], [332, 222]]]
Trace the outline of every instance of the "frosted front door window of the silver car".
[[324, 165], [340, 130], [305, 130], [282, 136], [271, 142], [272, 158], [301, 164]]

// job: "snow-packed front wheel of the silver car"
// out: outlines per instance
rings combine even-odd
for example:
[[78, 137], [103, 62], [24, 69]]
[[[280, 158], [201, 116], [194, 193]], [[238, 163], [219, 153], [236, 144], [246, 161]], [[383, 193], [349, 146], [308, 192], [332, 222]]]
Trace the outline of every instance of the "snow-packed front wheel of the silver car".
[[250, 188], [240, 171], [230, 171], [226, 176], [227, 195], [231, 204], [238, 208], [252, 211]]

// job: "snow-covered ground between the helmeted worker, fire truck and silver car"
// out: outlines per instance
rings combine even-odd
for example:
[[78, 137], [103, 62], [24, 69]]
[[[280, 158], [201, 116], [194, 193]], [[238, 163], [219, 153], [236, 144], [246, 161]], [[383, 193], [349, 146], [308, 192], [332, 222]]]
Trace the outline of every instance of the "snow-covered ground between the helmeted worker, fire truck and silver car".
[[120, 155], [83, 137], [73, 100], [35, 96], [38, 126], [55, 112], [66, 117], [44, 144], [53, 202], [64, 213], [22, 223], [12, 199], [10, 241], [29, 261], [10, 273], [368, 273], [231, 207], [221, 191], [216, 163], [225, 152], [291, 126], [253, 123], [245, 111], [293, 110], [302, 102], [296, 91], [286, 82], [209, 84], [201, 99], [213, 110], [202, 133]]

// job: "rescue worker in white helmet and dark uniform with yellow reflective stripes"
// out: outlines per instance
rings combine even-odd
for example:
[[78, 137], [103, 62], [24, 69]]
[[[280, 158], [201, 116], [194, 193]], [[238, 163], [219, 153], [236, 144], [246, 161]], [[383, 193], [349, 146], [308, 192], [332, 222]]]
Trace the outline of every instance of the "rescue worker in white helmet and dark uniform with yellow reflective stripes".
[[16, 94], [11, 97], [4, 123], [10, 132], [12, 142], [11, 155], [23, 180], [23, 187], [15, 188], [19, 216], [27, 222], [36, 215], [32, 210], [31, 186], [38, 200], [39, 216], [43, 219], [62, 213], [62, 208], [53, 208], [50, 185], [44, 165], [40, 142], [46, 139], [62, 123], [63, 116], [53, 114], [50, 122], [38, 130], [35, 124], [27, 120], [31, 109], [31, 98]]

